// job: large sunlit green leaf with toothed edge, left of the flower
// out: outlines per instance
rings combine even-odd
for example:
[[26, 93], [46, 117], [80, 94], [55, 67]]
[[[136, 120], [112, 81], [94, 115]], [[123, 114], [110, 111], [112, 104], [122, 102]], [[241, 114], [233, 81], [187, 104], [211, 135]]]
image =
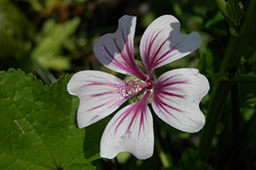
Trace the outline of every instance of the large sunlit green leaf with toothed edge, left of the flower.
[[20, 70], [0, 72], [0, 169], [95, 169], [98, 153], [87, 153], [77, 127], [79, 99], [67, 94], [70, 77], [47, 87]]

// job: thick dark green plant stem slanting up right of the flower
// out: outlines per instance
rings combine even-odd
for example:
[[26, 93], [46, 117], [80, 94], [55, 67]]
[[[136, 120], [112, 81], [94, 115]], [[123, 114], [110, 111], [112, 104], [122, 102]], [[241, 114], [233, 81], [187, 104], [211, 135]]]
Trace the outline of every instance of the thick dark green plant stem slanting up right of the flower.
[[[247, 8], [247, 13], [241, 23], [238, 32], [239, 37], [230, 35], [224, 59], [221, 63], [219, 73], [235, 74], [238, 68], [241, 55], [247, 48], [247, 44], [256, 29], [256, 1], [252, 0]], [[225, 101], [230, 94], [231, 83], [219, 79], [214, 83], [212, 96], [207, 110], [207, 122], [201, 133], [199, 153], [204, 161], [208, 161], [212, 149], [212, 139], [216, 134], [219, 118], [224, 109]]]

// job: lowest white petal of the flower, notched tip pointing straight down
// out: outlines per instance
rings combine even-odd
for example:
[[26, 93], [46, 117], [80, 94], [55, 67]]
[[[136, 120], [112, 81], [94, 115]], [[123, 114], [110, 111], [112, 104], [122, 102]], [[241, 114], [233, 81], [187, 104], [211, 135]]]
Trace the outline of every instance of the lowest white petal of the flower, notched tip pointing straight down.
[[112, 159], [119, 152], [131, 152], [137, 159], [153, 155], [153, 118], [148, 108], [148, 97], [127, 105], [113, 116], [102, 135], [101, 156]]

